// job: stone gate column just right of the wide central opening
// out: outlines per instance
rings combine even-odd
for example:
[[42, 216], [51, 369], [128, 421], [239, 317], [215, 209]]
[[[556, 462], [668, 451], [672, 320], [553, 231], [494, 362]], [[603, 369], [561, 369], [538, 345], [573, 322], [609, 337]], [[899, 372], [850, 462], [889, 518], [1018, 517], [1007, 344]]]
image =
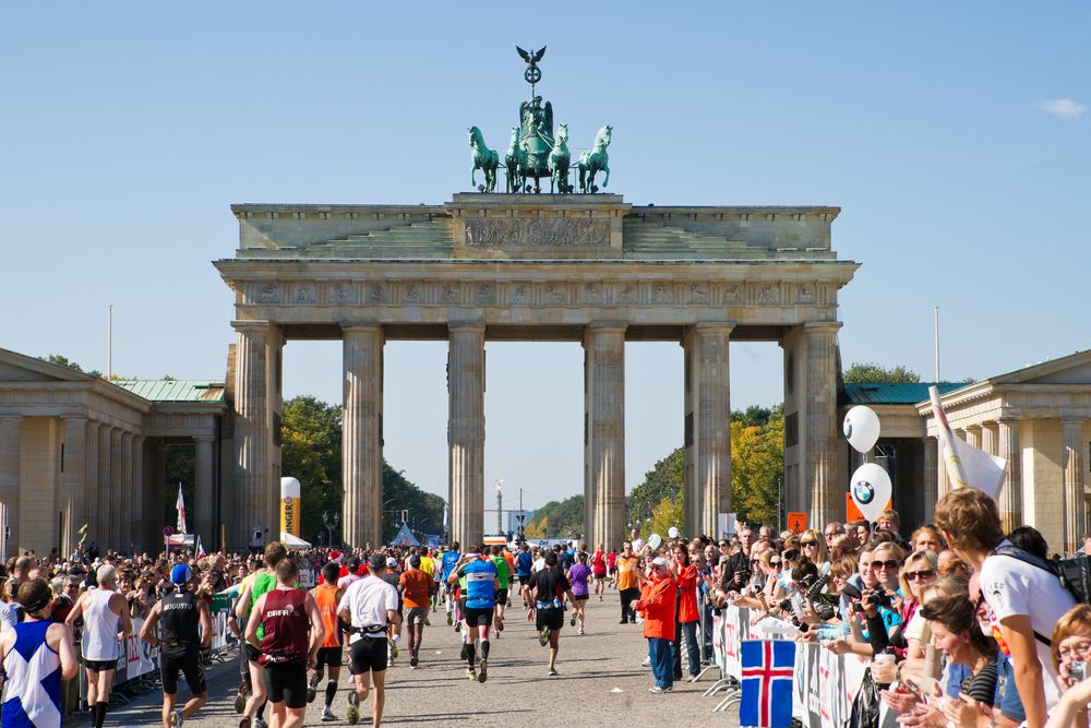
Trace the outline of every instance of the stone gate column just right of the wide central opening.
[[588, 481], [592, 500], [584, 538], [597, 548], [625, 539], [625, 326], [595, 323], [584, 332]]

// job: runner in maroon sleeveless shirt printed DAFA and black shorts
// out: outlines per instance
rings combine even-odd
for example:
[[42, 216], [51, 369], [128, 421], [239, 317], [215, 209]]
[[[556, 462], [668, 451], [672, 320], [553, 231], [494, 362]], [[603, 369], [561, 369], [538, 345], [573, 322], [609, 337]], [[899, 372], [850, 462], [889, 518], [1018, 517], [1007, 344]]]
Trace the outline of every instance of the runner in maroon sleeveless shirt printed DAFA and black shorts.
[[[307, 668], [315, 664], [325, 639], [319, 606], [314, 597], [299, 588], [298, 582], [299, 565], [293, 560], [285, 558], [277, 562], [276, 586], [259, 597], [247, 622], [247, 644], [260, 653], [257, 661], [268, 679], [268, 701], [276, 728], [303, 725]], [[259, 629], [263, 632], [260, 640]], [[250, 728], [250, 718], [243, 717], [239, 728]]]

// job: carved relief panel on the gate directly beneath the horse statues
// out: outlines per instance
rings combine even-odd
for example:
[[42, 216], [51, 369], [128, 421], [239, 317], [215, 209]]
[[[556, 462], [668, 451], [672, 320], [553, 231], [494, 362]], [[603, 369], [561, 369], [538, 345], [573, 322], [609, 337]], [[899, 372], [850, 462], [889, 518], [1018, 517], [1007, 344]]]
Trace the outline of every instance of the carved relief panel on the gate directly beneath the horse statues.
[[610, 246], [610, 220], [471, 217], [465, 222], [467, 246], [482, 248], [597, 248]]

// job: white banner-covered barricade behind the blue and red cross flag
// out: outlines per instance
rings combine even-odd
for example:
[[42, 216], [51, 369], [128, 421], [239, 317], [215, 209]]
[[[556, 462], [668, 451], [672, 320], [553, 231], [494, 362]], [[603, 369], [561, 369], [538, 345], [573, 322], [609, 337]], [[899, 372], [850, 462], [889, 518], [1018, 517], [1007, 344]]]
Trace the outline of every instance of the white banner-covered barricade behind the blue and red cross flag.
[[[807, 728], [844, 728], [849, 725], [852, 703], [864, 680], [866, 664], [859, 658], [836, 655], [817, 644], [774, 640], [758, 625], [752, 625], [748, 609], [724, 607], [712, 616], [712, 653], [720, 668], [721, 681], [706, 692], [714, 695], [723, 683], [734, 689], [743, 681], [741, 645], [745, 640], [791, 642], [795, 649], [792, 678], [792, 717]], [[760, 680], [760, 678], [755, 678]], [[739, 702], [733, 695], [714, 709]]]

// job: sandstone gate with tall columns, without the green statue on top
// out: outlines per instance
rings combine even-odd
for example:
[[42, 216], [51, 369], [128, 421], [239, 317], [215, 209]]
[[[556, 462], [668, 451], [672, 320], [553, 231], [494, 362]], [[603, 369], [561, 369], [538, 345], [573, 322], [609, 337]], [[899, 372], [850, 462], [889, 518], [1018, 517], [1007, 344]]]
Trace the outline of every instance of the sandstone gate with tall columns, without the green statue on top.
[[[594, 190], [592, 190], [594, 191]], [[383, 347], [448, 343], [452, 538], [484, 522], [484, 345], [579, 342], [585, 354], [585, 540], [625, 537], [625, 342], [685, 350], [685, 530], [731, 505], [731, 342], [784, 351], [789, 510], [840, 520], [837, 207], [634, 206], [615, 194], [455, 194], [442, 205], [244, 204], [235, 258], [235, 532], [275, 532], [281, 353], [344, 343], [344, 535], [382, 538]], [[542, 383], [539, 383], [542, 384]], [[636, 393], [635, 396], [639, 396]], [[542, 443], [543, 453], [550, 445]]]

